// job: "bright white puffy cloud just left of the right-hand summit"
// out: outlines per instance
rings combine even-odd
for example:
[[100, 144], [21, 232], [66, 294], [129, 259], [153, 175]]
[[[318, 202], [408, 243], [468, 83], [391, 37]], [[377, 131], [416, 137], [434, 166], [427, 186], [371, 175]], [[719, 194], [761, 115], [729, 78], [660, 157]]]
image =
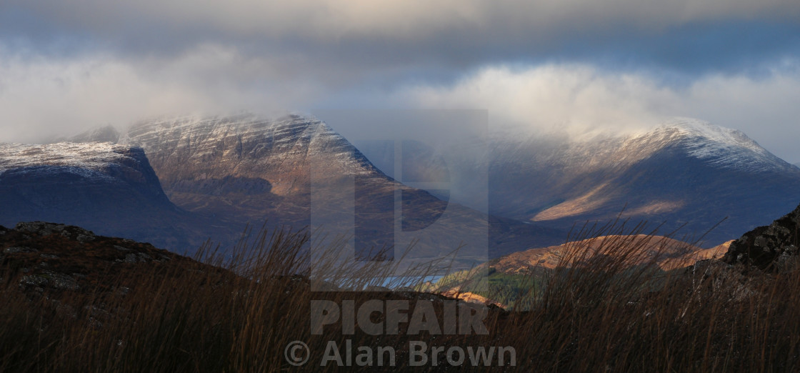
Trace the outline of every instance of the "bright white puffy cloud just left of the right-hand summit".
[[634, 75], [606, 76], [590, 66], [493, 67], [451, 87], [418, 86], [403, 92], [414, 106], [488, 109], [495, 126], [539, 131], [632, 130], [660, 122], [642, 91], [658, 90]]

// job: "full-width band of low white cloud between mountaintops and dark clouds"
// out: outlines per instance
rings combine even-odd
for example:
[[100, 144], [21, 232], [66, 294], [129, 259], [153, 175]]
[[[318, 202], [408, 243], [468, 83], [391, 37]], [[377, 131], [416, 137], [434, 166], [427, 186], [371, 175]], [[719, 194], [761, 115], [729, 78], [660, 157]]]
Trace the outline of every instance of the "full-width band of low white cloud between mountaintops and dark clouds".
[[[0, 52], [0, 141], [6, 142], [154, 115], [309, 110], [342, 94], [306, 76], [291, 56], [253, 57], [216, 44], [137, 60]], [[356, 89], [343, 97], [339, 102], [350, 107], [489, 109], [493, 124], [566, 129], [576, 136], [640, 130], [672, 116], [701, 118], [744, 130], [778, 156], [800, 160], [800, 68], [794, 61], [762, 78], [712, 74], [677, 88], [648, 73], [609, 73], [587, 64], [490, 66], [448, 86]]]

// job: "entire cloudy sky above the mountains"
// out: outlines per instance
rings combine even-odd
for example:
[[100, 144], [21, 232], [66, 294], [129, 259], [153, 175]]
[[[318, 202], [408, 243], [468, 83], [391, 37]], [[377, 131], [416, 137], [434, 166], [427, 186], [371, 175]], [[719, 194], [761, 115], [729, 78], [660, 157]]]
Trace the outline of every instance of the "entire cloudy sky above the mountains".
[[692, 117], [800, 162], [800, 2], [0, 0], [0, 141], [341, 108], [576, 132]]

